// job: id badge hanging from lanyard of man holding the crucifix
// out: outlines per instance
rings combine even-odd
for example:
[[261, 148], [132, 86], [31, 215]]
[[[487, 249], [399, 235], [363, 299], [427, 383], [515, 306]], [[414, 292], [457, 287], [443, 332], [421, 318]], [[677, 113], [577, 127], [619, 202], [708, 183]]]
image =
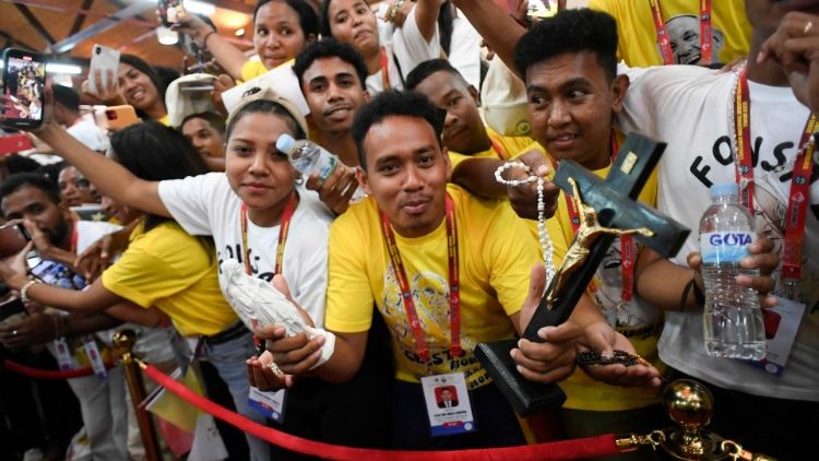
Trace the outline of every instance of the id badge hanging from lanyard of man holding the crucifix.
[[432, 437], [477, 430], [463, 373], [425, 376], [420, 386]]

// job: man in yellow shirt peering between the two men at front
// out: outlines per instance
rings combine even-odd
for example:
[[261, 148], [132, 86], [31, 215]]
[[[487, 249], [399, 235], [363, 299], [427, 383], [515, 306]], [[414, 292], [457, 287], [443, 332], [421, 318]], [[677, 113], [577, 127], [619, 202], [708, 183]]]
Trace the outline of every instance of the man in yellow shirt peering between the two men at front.
[[[518, 156], [532, 144], [532, 138], [505, 137], [487, 127], [478, 110], [480, 96], [477, 90], [446, 59], [422, 62], [406, 76], [405, 85], [447, 111], [442, 138], [452, 164], [450, 181], [483, 197], [495, 197], [478, 192], [487, 189], [498, 190], [502, 197], [506, 188], [488, 173], [497, 169], [502, 161]], [[471, 158], [494, 162], [464, 162]]]

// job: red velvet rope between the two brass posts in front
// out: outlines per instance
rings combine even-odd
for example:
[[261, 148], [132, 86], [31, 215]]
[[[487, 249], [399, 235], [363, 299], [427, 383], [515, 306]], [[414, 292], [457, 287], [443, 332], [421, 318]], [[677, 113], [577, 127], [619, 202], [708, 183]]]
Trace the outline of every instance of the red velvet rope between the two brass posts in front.
[[157, 385], [213, 416], [239, 428], [240, 430], [266, 440], [270, 444], [296, 451], [301, 454], [331, 459], [360, 461], [453, 461], [453, 460], [575, 460], [585, 458], [606, 457], [619, 451], [615, 444], [614, 434], [573, 440], [561, 440], [548, 444], [529, 445], [522, 447], [505, 447], [491, 449], [474, 449], [460, 451], [399, 451], [372, 450], [366, 448], [340, 447], [320, 441], [313, 441], [282, 433], [271, 427], [247, 419], [241, 415], [217, 405], [202, 395], [192, 392], [157, 368], [149, 365], [145, 374]]

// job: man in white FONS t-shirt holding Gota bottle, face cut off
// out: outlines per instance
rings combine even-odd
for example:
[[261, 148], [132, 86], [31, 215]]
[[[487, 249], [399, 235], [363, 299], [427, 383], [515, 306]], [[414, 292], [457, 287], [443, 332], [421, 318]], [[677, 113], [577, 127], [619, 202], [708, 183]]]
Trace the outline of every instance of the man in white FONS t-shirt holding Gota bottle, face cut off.
[[[652, 267], [652, 280], [638, 281], [638, 288], [645, 297], [651, 296], [652, 286], [668, 286], [668, 283], [653, 282], [691, 279], [685, 256], [698, 250], [696, 229], [710, 203], [709, 187], [737, 180], [737, 139], [750, 146], [746, 156], [752, 163], [757, 229], [773, 240], [778, 252], [783, 255], [794, 161], [806, 130], [809, 134], [816, 128], [807, 127], [810, 113], [794, 97], [783, 69], [775, 62], [760, 64], [755, 57], [788, 10], [817, 13], [819, 2], [788, 7], [773, 0], [748, 0], [746, 10], [753, 26], [753, 38], [745, 71], [717, 74], [677, 66], [627, 71], [631, 86], [625, 111], [617, 121], [626, 132], [640, 131], [668, 143], [660, 163], [657, 208], [695, 229], [674, 259], [678, 265], [666, 263], [656, 272]], [[747, 75], [747, 97], [737, 93], [737, 86], [741, 90], [745, 81], [743, 75]], [[750, 105], [750, 137], [743, 135], [741, 130], [737, 133], [734, 111], [737, 101]], [[809, 202], [819, 203], [816, 169], [809, 177], [803, 177], [809, 180]], [[667, 312], [658, 344], [665, 363], [679, 375], [705, 381], [714, 392], [713, 430], [736, 438], [753, 451], [780, 459], [805, 458], [811, 448], [812, 430], [802, 422], [819, 411], [819, 367], [816, 366], [819, 354], [819, 221], [809, 210], [804, 238], [798, 258], [802, 277], [793, 281], [795, 286], [787, 286], [781, 270], [773, 274], [776, 282], [773, 294], [779, 297], [780, 308], [787, 311], [778, 308], [773, 314], [781, 316], [779, 330], [784, 330], [784, 326], [798, 330], [793, 347], [780, 357], [779, 365], [769, 359], [764, 367], [758, 367], [709, 356], [703, 343], [701, 310]], [[675, 279], [674, 274], [685, 276]], [[700, 283], [698, 276], [697, 287], [702, 289]], [[772, 324], [768, 327], [768, 335], [774, 335]]]

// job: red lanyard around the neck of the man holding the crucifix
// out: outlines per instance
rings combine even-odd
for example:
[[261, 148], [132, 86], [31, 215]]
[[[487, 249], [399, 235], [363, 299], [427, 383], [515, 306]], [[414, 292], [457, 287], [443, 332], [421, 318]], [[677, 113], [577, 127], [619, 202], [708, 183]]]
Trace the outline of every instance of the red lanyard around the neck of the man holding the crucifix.
[[[447, 193], [446, 199], [446, 222], [447, 222], [447, 249], [448, 249], [448, 262], [449, 262], [449, 310], [450, 310], [450, 352], [452, 357], [461, 356], [461, 293], [459, 285], [459, 273], [458, 273], [458, 225], [455, 223], [455, 204], [452, 198]], [[406, 317], [410, 319], [410, 328], [413, 330], [413, 336], [415, 338], [415, 345], [418, 351], [418, 355], [424, 362], [429, 362], [429, 346], [427, 341], [424, 339], [424, 330], [420, 326], [420, 319], [418, 318], [418, 311], [415, 309], [415, 302], [413, 300], [413, 293], [410, 289], [410, 282], [406, 279], [406, 272], [404, 271], [404, 263], [401, 260], [401, 253], [399, 247], [395, 244], [395, 234], [392, 232], [392, 225], [390, 225], [390, 218], [381, 212], [381, 230], [387, 240], [387, 251], [390, 253], [390, 262], [392, 269], [395, 271], [395, 276], [399, 280], [399, 286], [401, 287], [401, 298], [404, 303], [404, 310]]]

